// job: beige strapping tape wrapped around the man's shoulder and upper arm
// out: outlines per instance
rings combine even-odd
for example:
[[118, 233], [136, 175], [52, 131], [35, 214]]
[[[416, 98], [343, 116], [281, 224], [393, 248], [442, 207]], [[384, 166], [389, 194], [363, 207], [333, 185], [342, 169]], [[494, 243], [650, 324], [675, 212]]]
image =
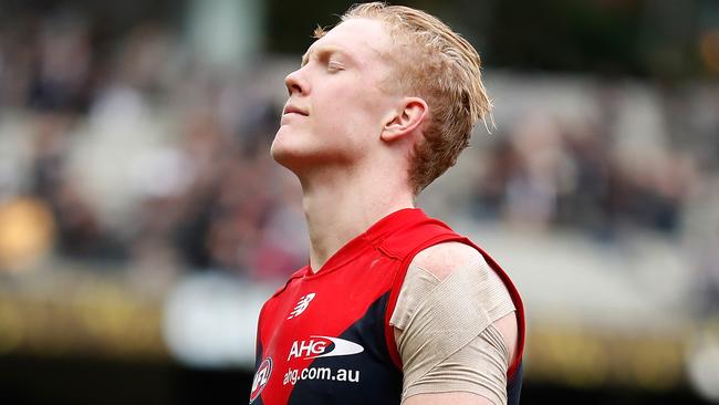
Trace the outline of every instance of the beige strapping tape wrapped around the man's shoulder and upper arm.
[[389, 321], [403, 361], [403, 401], [424, 393], [470, 392], [507, 403], [509, 350], [492, 323], [514, 311], [482, 259], [445, 280], [410, 266]]

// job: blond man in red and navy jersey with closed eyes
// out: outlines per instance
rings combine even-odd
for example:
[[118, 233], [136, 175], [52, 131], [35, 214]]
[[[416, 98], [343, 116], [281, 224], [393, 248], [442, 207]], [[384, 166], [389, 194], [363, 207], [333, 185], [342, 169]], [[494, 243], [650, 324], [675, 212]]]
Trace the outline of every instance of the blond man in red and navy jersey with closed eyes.
[[414, 208], [489, 114], [477, 52], [383, 3], [315, 38], [271, 150], [302, 185], [310, 263], [262, 308], [250, 403], [518, 403], [517, 290]]

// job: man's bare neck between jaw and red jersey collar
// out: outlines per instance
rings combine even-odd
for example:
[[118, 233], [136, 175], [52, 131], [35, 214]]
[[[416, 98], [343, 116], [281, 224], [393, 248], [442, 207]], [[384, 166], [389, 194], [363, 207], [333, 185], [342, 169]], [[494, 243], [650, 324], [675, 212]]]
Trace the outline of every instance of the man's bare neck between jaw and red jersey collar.
[[379, 219], [414, 207], [414, 196], [406, 183], [402, 183], [404, 179], [388, 177], [392, 176], [363, 177], [354, 173], [301, 179], [313, 272], [320, 271], [340, 248]]

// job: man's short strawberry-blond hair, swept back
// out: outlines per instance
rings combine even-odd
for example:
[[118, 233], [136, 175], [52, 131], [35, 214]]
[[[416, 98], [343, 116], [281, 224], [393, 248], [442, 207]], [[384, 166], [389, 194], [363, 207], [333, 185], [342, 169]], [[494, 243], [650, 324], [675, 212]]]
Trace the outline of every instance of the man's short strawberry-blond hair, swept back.
[[[482, 83], [481, 61], [475, 48], [438, 18], [404, 6], [383, 2], [355, 4], [341, 22], [354, 18], [386, 23], [398, 58], [399, 91], [419, 96], [429, 106], [424, 141], [415, 147], [409, 181], [415, 195], [457, 163], [469, 145], [478, 120], [491, 117], [492, 103]], [[315, 38], [324, 35], [319, 28]]]

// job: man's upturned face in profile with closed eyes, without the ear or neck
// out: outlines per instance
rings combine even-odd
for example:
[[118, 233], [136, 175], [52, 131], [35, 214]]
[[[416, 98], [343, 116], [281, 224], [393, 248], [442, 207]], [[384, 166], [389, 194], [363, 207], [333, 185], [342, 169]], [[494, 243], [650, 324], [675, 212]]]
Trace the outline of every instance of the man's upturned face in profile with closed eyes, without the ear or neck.
[[295, 174], [372, 156], [395, 96], [383, 90], [390, 37], [379, 21], [351, 19], [315, 41], [285, 84], [290, 97], [272, 156]]

